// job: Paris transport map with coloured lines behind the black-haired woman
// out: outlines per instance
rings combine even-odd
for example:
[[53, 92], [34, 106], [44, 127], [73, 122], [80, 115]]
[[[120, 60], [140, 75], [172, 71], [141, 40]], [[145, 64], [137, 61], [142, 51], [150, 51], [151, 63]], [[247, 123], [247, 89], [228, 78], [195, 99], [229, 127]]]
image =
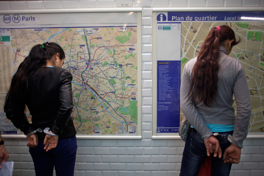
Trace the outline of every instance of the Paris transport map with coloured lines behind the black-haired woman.
[[[73, 76], [71, 117], [77, 134], [137, 135], [137, 27], [10, 29], [13, 74], [30, 49], [46, 41], [65, 52], [63, 68]], [[5, 96], [0, 98], [2, 109]], [[30, 112], [27, 117], [31, 121]], [[4, 130], [16, 130], [3, 113], [0, 122]]]

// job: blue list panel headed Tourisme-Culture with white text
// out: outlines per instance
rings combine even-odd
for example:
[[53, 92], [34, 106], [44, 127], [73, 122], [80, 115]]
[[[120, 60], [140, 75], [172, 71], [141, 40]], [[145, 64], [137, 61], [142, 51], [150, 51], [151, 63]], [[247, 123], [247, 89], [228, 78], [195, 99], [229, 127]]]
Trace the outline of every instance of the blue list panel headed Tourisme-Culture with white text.
[[157, 133], [180, 127], [181, 61], [157, 61]]

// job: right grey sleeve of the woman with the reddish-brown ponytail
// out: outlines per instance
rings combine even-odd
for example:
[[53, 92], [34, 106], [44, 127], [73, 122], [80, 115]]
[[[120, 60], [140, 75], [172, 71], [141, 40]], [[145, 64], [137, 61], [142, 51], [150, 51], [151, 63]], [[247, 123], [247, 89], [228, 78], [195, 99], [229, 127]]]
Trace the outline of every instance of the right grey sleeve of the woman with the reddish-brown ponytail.
[[235, 101], [237, 103], [237, 116], [232, 141], [240, 148], [248, 133], [248, 124], [251, 116], [251, 105], [246, 75], [243, 66], [238, 63], [238, 74], [233, 86]]

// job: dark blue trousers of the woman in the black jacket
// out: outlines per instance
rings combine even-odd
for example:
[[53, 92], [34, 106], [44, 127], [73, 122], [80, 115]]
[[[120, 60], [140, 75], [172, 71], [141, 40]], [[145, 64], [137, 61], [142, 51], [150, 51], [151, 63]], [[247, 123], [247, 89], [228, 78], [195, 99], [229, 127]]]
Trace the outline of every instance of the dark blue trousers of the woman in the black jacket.
[[52, 176], [53, 168], [57, 176], [73, 176], [77, 151], [76, 136], [59, 139], [55, 149], [46, 152], [43, 145], [44, 140], [40, 140], [35, 148], [29, 148], [32, 156], [36, 176]]

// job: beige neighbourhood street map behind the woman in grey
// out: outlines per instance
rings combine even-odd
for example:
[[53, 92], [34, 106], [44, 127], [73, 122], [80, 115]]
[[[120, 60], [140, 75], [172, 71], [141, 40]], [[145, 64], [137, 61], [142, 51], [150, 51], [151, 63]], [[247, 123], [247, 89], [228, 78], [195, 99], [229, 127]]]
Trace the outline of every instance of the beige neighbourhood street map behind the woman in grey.
[[[202, 42], [211, 27], [228, 25], [241, 42], [232, 49], [232, 58], [244, 67], [249, 87], [252, 114], [249, 132], [264, 131], [264, 23], [263, 22], [182, 22], [181, 23], [181, 74], [185, 64], [199, 54]], [[234, 98], [234, 97], [233, 97]], [[237, 112], [234, 98], [233, 106]], [[181, 119], [183, 114], [181, 112]]]

